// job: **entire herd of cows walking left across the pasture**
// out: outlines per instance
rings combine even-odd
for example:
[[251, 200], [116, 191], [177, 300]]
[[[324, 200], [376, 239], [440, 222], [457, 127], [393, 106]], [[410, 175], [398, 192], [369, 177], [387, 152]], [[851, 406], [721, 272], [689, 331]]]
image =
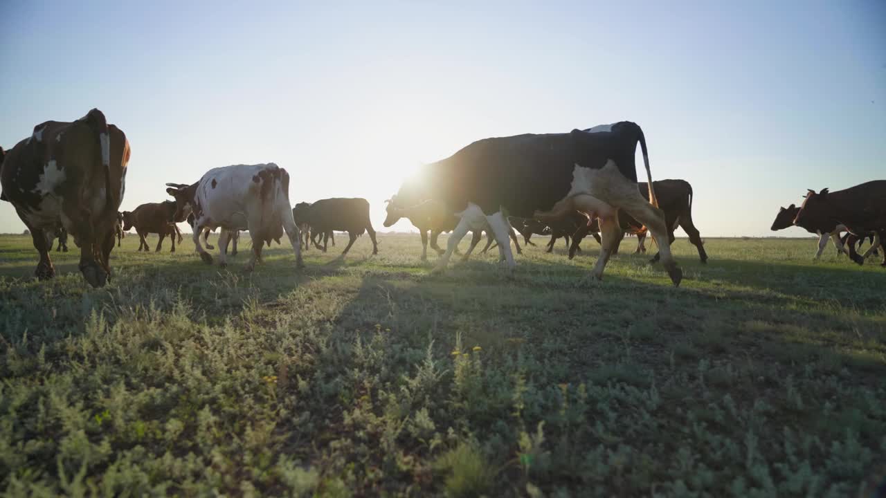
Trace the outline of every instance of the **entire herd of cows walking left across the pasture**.
[[[634, 155], [641, 146], [646, 182], [637, 182]], [[149, 251], [145, 236], [159, 235], [155, 251], [170, 237], [172, 251], [182, 235], [175, 223], [187, 222], [203, 261], [211, 263], [206, 248], [211, 230], [221, 229], [218, 262], [225, 265], [228, 246], [237, 253], [241, 230], [252, 238], [252, 270], [264, 245], [289, 238], [297, 268], [302, 250], [313, 244], [323, 251], [334, 231], [348, 233], [347, 253], [368, 232], [372, 253], [378, 252], [376, 232], [369, 221], [369, 202], [363, 198], [327, 198], [291, 206], [290, 176], [274, 163], [210, 169], [196, 183], [167, 183], [173, 200], [149, 203], [119, 212], [125, 194], [130, 156], [126, 135], [93, 109], [73, 122], [45, 121], [12, 150], [0, 148], [0, 199], [12, 203], [27, 225], [40, 253], [35, 275], [55, 274], [49, 252], [58, 237], [58, 249], [67, 251], [69, 233], [81, 249], [79, 268], [86, 281], [100, 287], [111, 276], [109, 256], [126, 231], [135, 229], [139, 251]], [[549, 235], [548, 252], [565, 238], [572, 258], [588, 234], [601, 245], [592, 276], [602, 278], [610, 255], [627, 234], [638, 237], [637, 252], [645, 252], [649, 232], [674, 285], [682, 271], [671, 254], [674, 230], [682, 227], [696, 245], [702, 262], [708, 256], [692, 222], [692, 186], [683, 180], [652, 181], [649, 153], [641, 128], [621, 121], [570, 133], [487, 138], [474, 142], [420, 168], [388, 199], [385, 227], [407, 218], [420, 231], [422, 259], [427, 245], [439, 254], [436, 271], [447, 267], [458, 243], [473, 232], [467, 258], [486, 231], [483, 252], [497, 245], [501, 261], [515, 266], [510, 250], [517, 232], [524, 244], [533, 234]], [[820, 235], [819, 257], [828, 237], [838, 253], [864, 262], [886, 239], [886, 181], [862, 183], [844, 191], [809, 191], [800, 207], [782, 207], [773, 230], [797, 225]], [[440, 233], [452, 232], [446, 249], [437, 244]], [[847, 235], [840, 237], [842, 232]], [[202, 236], [202, 237], [201, 237]], [[870, 237], [864, 255], [857, 244]], [[202, 242], [201, 242], [202, 238]], [[344, 254], [343, 253], [343, 254]], [[886, 251], [883, 263], [886, 266]]]

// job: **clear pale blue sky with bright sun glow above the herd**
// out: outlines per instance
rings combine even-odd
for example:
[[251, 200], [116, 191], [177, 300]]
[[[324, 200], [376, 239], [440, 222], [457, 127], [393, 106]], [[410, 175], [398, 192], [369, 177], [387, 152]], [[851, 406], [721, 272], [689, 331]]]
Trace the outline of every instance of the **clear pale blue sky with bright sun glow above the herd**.
[[882, 0], [224, 4], [3, 0], [0, 145], [98, 107], [132, 145], [124, 209], [273, 161], [293, 203], [365, 197], [377, 228], [422, 162], [624, 120], [703, 237], [886, 178]]

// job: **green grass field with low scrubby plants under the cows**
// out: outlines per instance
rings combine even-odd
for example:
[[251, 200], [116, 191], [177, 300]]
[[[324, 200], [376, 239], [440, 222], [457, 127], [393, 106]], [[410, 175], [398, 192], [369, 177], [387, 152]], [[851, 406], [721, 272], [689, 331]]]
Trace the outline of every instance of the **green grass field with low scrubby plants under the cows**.
[[[537, 237], [541, 243], [543, 237]], [[213, 237], [213, 242], [215, 237]], [[855, 496], [886, 476], [886, 269], [806, 240], [678, 240], [587, 279], [529, 248], [429, 275], [417, 235], [252, 275], [0, 237], [9, 496]], [[152, 246], [156, 238], [151, 240]], [[633, 250], [627, 239], [623, 251]], [[464, 243], [462, 243], [464, 247]]]

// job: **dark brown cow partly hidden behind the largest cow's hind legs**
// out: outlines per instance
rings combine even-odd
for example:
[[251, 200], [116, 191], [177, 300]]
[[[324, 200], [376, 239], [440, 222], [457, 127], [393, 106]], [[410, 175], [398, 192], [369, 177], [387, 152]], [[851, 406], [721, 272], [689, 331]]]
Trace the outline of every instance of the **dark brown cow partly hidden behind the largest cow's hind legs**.
[[[675, 239], [673, 235], [674, 230], [677, 230], [677, 227], [682, 227], [689, 236], [689, 242], [698, 248], [699, 259], [703, 263], [707, 262], [708, 254], [704, 251], [701, 234], [699, 234], [696, 225], [692, 222], [692, 185], [685, 180], [658, 180], [653, 182], [653, 185], [658, 198], [658, 207], [664, 211], [664, 224], [668, 233], [668, 243], [672, 243]], [[637, 183], [637, 187], [643, 197], [649, 198], [646, 183]], [[645, 235], [646, 233], [646, 228], [643, 224], [634, 220], [625, 211], [618, 213], [618, 222], [622, 230], [632, 232], [638, 236]], [[595, 223], [590, 223], [575, 233], [570, 246], [570, 258], [575, 255], [575, 250], [581, 239], [593, 230], [594, 226]], [[624, 234], [622, 234], [622, 238], [624, 238]], [[657, 262], [659, 257], [659, 253], [656, 253], [651, 262]]]

